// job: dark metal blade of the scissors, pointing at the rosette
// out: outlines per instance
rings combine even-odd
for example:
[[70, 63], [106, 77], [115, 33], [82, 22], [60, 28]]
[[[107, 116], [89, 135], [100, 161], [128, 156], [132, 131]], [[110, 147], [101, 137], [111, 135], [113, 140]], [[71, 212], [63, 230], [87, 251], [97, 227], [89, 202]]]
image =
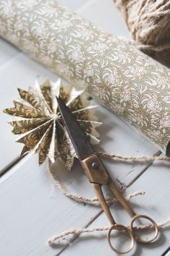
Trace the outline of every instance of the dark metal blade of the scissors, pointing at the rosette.
[[91, 147], [91, 144], [89, 143], [89, 140], [86, 137], [85, 133], [79, 126], [78, 121], [76, 121], [76, 118], [73, 116], [73, 114], [71, 114], [69, 108], [66, 106], [61, 98], [56, 98], [58, 101], [58, 108], [61, 112], [61, 116], [66, 126], [68, 135], [71, 138], [71, 142], [73, 143], [73, 147], [76, 151], [77, 156], [82, 161], [89, 155], [94, 154], [95, 151]]

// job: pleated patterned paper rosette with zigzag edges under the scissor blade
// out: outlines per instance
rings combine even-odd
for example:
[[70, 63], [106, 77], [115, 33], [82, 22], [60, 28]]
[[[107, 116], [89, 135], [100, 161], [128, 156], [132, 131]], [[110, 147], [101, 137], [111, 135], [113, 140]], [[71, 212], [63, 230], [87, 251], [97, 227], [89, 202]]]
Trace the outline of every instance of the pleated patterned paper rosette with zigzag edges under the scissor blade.
[[38, 153], [39, 164], [48, 157], [52, 163], [60, 160], [68, 170], [71, 169], [76, 152], [55, 96], [65, 101], [91, 143], [99, 142], [96, 127], [102, 123], [94, 116], [96, 106], [89, 106], [83, 90], [76, 90], [72, 85], [63, 86], [61, 80], [55, 83], [47, 80], [42, 86], [36, 82], [35, 88], [18, 91], [21, 99], [14, 100], [14, 107], [4, 109], [4, 113], [15, 117], [9, 124], [14, 127], [12, 132], [19, 135], [17, 142], [24, 143], [22, 155], [32, 150]]

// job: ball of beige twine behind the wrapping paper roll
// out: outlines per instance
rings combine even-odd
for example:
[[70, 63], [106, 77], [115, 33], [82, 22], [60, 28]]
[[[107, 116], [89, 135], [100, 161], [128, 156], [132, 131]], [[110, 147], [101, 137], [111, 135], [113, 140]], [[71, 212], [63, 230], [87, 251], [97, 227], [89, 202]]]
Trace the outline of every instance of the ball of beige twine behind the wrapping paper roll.
[[113, 0], [133, 43], [170, 67], [170, 0]]

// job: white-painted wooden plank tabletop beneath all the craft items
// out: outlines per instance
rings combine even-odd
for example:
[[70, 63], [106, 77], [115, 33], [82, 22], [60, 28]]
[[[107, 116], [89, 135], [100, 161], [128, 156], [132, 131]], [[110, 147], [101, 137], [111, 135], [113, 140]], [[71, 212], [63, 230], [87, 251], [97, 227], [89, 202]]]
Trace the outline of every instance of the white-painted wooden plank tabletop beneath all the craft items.
[[[58, 0], [61, 4], [79, 12], [87, 19], [115, 35], [128, 37], [125, 23], [118, 14], [112, 0]], [[22, 145], [14, 142], [11, 127], [6, 124], [9, 116], [2, 109], [12, 106], [12, 99], [18, 97], [17, 87], [33, 85], [36, 77], [57, 76], [37, 64], [9, 43], [0, 39], [0, 169], [19, 155]], [[121, 155], [153, 155], [158, 153], [150, 142], [128, 127], [102, 106], [98, 115], [103, 121], [99, 128], [101, 143], [97, 150]], [[117, 181], [125, 195], [143, 190], [146, 195], [132, 199], [137, 213], [148, 214], [157, 222], [170, 215], [170, 171], [169, 163], [125, 164], [106, 162], [109, 173]], [[72, 192], [94, 197], [91, 185], [83, 171], [75, 168], [70, 173], [58, 170], [63, 184]], [[58, 189], [47, 171], [47, 166], [38, 166], [37, 155], [26, 157], [15, 164], [0, 179], [0, 255], [2, 256], [52, 256], [52, 255], [115, 255], [109, 249], [105, 232], [79, 236], [69, 246], [49, 247], [47, 239], [53, 234], [84, 226], [107, 226], [107, 218], [100, 208], [73, 202]], [[130, 218], [119, 205], [115, 205], [115, 218], [128, 224]], [[169, 229], [161, 231], [156, 244], [141, 245], [134, 256], [161, 256], [170, 245]], [[170, 255], [169, 252], [165, 254]]]

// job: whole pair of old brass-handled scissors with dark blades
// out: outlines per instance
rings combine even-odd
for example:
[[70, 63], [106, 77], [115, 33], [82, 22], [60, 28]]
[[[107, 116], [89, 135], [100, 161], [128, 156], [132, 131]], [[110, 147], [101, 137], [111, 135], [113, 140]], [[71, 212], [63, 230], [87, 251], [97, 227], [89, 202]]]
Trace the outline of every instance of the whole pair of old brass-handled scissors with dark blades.
[[[89, 182], [91, 183], [91, 186], [93, 187], [94, 192], [97, 195], [100, 205], [102, 206], [102, 209], [104, 210], [104, 213], [106, 214], [111, 224], [107, 234], [109, 246], [112, 248], [113, 251], [119, 254], [125, 254], [130, 252], [131, 249], [133, 249], [135, 240], [140, 243], [153, 242], [153, 240], [155, 240], [156, 237], [158, 236], [158, 226], [156, 222], [153, 221], [153, 219], [150, 218], [149, 216], [136, 214], [134, 212], [134, 210], [130, 207], [128, 202], [122, 196], [120, 190], [117, 189], [115, 182], [113, 182], [112, 178], [109, 176], [109, 173], [107, 169], [104, 167], [102, 160], [99, 158], [99, 155], [97, 155], [97, 152], [95, 152], [95, 150], [92, 148], [88, 138], [86, 137], [86, 134], [82, 131], [81, 127], [79, 126], [79, 123], [76, 121], [75, 117], [73, 116], [69, 108], [66, 106], [66, 104], [63, 102], [61, 98], [56, 98], [58, 101], [58, 108], [61, 113], [61, 118], [63, 119], [63, 124], [65, 124], [68, 135], [71, 138], [71, 142], [73, 144], [73, 148], [76, 151], [76, 155], [78, 156], [81, 166], [84, 168], [85, 174], [89, 179]], [[109, 210], [109, 206], [107, 205], [107, 202], [104, 198], [104, 194], [102, 192], [102, 185], [107, 185], [113, 193], [113, 195], [117, 197], [117, 200], [121, 203], [122, 207], [125, 208], [125, 210], [127, 210], [131, 217], [130, 226], [124, 226], [116, 223], [115, 219], [112, 216], [112, 213]], [[141, 239], [140, 237], [137, 236], [137, 234], [135, 234], [134, 222], [141, 218], [145, 218], [148, 221], [151, 221], [153, 225], [154, 234], [153, 236], [151, 236], [150, 239]], [[112, 245], [110, 239], [112, 230], [127, 232], [130, 238], [130, 246], [126, 251], [120, 251], [119, 249], [115, 248]]]

